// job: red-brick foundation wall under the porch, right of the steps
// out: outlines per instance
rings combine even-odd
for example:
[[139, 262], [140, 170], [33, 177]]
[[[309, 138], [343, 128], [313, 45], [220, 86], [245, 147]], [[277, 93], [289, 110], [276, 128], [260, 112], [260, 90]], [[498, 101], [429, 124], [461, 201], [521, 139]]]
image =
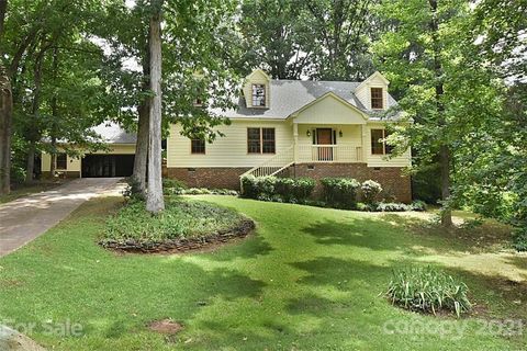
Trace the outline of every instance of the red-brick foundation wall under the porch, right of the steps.
[[[294, 177], [322, 179], [325, 177], [349, 177], [360, 182], [374, 180], [382, 185], [383, 196], [395, 197], [396, 201], [412, 202], [411, 178], [403, 176], [400, 167], [368, 167], [366, 163], [301, 163], [292, 171]], [[321, 191], [317, 184], [315, 192]]]

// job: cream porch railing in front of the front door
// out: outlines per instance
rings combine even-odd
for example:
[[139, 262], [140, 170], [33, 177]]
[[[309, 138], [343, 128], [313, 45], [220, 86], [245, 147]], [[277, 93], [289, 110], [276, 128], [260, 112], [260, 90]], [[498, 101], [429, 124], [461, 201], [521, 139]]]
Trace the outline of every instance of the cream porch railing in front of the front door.
[[299, 145], [296, 162], [360, 162], [362, 147], [355, 145]]

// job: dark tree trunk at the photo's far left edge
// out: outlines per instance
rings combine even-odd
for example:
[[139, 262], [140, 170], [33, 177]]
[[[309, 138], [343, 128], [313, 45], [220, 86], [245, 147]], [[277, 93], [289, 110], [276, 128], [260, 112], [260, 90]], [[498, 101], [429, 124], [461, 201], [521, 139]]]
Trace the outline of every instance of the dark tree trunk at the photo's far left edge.
[[[8, 0], [0, 0], [0, 56], [3, 56], [3, 23]], [[9, 73], [0, 61], [0, 194], [11, 190], [11, 124], [13, 118], [13, 94]]]

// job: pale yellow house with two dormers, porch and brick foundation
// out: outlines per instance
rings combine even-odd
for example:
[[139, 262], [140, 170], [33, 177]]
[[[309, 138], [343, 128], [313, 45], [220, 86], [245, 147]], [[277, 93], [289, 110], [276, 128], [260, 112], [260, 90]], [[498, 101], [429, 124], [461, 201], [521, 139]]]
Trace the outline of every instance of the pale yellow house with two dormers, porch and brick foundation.
[[[411, 201], [403, 169], [411, 151], [390, 157], [386, 121], [396, 104], [389, 81], [374, 72], [362, 82], [276, 80], [257, 69], [245, 80], [225, 135], [213, 144], [189, 139], [179, 125], [167, 139], [167, 174], [190, 186], [239, 188], [246, 174], [372, 179], [402, 202]], [[388, 121], [390, 123], [390, 121]]]

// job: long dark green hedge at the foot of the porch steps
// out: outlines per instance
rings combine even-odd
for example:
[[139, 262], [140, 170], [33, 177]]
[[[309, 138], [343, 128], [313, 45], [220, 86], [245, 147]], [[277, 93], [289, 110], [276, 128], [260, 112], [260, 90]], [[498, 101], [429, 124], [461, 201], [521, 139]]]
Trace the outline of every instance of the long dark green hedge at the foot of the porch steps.
[[279, 196], [282, 202], [304, 202], [315, 189], [310, 178], [254, 177], [242, 178], [243, 196], [261, 201], [272, 201]]

